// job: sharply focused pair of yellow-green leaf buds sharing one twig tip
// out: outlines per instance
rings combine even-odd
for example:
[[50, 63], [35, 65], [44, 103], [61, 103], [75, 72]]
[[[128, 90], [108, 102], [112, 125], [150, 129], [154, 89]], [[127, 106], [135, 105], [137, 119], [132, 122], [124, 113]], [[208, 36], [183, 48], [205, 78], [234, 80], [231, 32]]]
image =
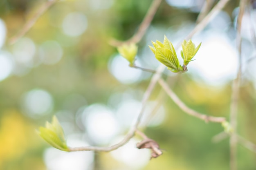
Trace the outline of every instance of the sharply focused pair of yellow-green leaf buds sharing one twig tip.
[[164, 43], [156, 40], [156, 42], [152, 41], [153, 46], [149, 46], [151, 51], [155, 54], [156, 59], [167, 66], [169, 70], [174, 73], [187, 71], [186, 65], [189, 62], [193, 61], [192, 58], [197, 53], [200, 48], [201, 43], [195, 48], [195, 44], [191, 40], [182, 43], [182, 51], [181, 56], [184, 60], [183, 66], [180, 65], [180, 62], [177, 58], [176, 51], [173, 47], [173, 44], [168, 40], [168, 38], [164, 35]]

